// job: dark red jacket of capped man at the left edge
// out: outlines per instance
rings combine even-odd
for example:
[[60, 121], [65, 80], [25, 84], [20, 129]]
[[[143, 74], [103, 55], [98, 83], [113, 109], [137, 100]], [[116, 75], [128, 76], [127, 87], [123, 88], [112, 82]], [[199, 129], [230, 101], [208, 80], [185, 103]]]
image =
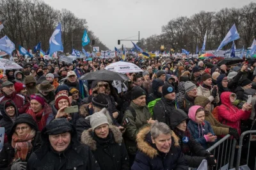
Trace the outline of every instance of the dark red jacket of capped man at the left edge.
[[0, 103], [4, 102], [6, 100], [12, 100], [13, 103], [18, 108], [19, 114], [26, 112], [26, 110], [28, 109], [28, 107], [30, 105], [28, 98], [24, 97], [24, 95], [17, 93], [16, 91], [14, 91], [12, 93], [12, 95], [6, 95], [4, 92], [2, 92], [2, 93], [3, 94], [0, 97]]

